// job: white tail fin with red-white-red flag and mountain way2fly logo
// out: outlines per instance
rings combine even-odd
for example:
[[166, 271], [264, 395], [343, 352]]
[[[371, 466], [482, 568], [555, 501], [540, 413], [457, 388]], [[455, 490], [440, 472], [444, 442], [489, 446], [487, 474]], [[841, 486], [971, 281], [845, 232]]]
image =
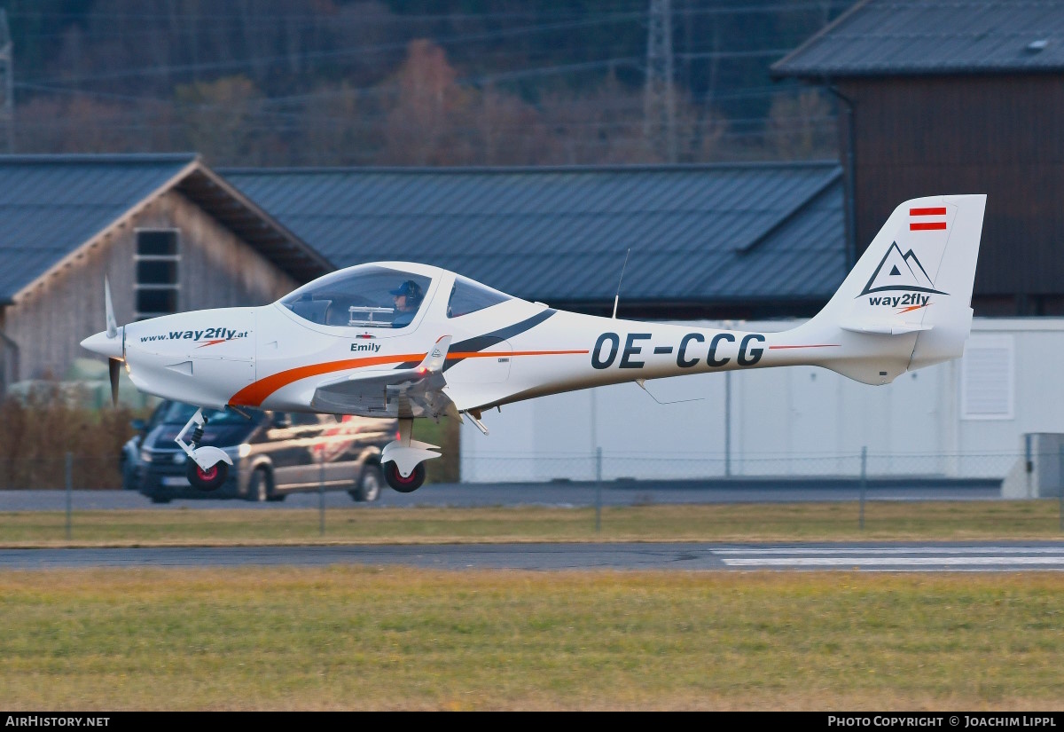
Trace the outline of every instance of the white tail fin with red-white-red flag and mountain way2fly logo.
[[842, 286], [799, 330], [838, 338], [820, 365], [868, 384], [960, 357], [971, 330], [971, 288], [986, 196], [905, 201]]

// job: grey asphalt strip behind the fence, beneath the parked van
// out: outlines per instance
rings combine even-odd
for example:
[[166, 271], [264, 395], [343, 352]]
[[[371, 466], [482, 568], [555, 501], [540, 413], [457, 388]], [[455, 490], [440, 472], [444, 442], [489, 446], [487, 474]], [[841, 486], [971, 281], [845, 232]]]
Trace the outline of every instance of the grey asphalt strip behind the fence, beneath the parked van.
[[[174, 500], [152, 503], [135, 490], [71, 490], [73, 511], [120, 509], [327, 509], [396, 506], [647, 505], [652, 503], [793, 503], [803, 501], [858, 501], [861, 485], [854, 480], [729, 480], [729, 481], [611, 481], [595, 483], [437, 483], [414, 493], [381, 490], [380, 499], [356, 503], [344, 492], [293, 494], [282, 502], [250, 503], [240, 500]], [[868, 481], [866, 500], [928, 501], [1001, 499], [1000, 480], [890, 480]], [[65, 511], [65, 490], [0, 490], [0, 512]]]

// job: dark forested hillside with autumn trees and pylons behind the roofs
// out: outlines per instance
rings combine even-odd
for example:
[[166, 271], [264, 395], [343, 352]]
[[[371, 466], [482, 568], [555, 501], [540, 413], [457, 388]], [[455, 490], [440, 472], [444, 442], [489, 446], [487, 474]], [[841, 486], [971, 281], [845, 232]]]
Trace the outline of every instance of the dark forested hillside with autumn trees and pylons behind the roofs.
[[850, 4], [7, 0], [0, 150], [214, 166], [833, 159], [834, 100], [768, 66]]

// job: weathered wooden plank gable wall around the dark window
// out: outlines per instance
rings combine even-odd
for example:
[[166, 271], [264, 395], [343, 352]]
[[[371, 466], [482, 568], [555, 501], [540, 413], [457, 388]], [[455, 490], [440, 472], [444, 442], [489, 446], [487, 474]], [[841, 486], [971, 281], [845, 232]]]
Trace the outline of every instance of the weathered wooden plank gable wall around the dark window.
[[4, 332], [19, 346], [20, 379], [62, 379], [74, 359], [92, 356], [80, 344], [106, 327], [104, 274], [118, 323], [133, 319], [137, 229], [180, 231], [180, 311], [265, 304], [298, 284], [170, 190], [5, 309]]

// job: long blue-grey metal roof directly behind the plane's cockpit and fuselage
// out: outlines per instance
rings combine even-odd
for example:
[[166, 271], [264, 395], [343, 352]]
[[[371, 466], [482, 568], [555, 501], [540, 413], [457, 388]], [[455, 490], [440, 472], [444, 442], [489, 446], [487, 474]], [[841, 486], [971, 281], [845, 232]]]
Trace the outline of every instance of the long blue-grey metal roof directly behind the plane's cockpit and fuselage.
[[827, 300], [835, 163], [219, 172], [337, 267], [405, 260], [553, 305]]

